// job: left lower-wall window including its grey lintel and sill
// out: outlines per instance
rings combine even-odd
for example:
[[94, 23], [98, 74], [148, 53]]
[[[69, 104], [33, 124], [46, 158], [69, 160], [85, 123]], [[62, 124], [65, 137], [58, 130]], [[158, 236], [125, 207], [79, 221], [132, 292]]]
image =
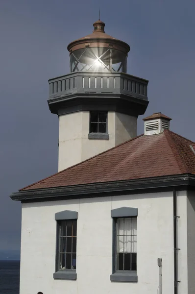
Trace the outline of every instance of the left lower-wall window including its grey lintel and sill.
[[56, 266], [54, 279], [76, 279], [76, 227], [77, 212], [71, 210], [55, 214]]

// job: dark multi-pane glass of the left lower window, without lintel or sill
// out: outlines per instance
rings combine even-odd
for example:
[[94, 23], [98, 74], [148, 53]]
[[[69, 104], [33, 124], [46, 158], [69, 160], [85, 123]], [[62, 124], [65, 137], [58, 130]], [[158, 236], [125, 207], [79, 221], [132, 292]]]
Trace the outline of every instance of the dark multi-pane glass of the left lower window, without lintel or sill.
[[76, 220], [58, 221], [56, 270], [76, 270]]

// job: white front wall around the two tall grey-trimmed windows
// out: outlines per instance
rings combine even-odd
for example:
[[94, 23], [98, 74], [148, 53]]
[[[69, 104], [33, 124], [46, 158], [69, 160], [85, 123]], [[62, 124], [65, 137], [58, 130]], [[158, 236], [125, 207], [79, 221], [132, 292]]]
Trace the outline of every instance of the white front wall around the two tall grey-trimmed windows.
[[[182, 201], [186, 202], [185, 197], [181, 196], [180, 204]], [[137, 283], [110, 281], [110, 213], [111, 209], [122, 206], [138, 208]], [[53, 279], [56, 245], [54, 214], [63, 210], [78, 212], [76, 280]], [[180, 236], [185, 233], [185, 223], [184, 216], [184, 225], [183, 218], [180, 220]], [[159, 283], [158, 257], [163, 259], [163, 293], [172, 294], [172, 192], [22, 204], [20, 294], [37, 294], [39, 291], [43, 294], [156, 294]], [[184, 260], [181, 259], [180, 262], [183, 263]], [[185, 266], [184, 262], [184, 265], [181, 265], [181, 268], [184, 268], [184, 273], [180, 271], [181, 279], [182, 275], [185, 275]], [[184, 293], [187, 294], [184, 290], [179, 292]]]

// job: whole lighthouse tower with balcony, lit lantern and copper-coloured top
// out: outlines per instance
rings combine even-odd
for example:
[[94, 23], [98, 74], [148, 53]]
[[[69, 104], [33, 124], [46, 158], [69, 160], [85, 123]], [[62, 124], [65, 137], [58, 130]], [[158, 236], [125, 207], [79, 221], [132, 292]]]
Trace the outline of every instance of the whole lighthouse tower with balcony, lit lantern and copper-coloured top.
[[49, 80], [49, 109], [59, 117], [58, 171], [137, 135], [146, 111], [148, 81], [127, 74], [128, 44], [105, 24], [68, 45], [70, 71]]

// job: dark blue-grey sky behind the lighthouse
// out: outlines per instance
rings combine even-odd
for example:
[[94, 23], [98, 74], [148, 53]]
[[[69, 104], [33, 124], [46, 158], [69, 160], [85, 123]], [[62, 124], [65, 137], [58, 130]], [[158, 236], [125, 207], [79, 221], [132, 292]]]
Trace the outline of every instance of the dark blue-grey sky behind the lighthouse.
[[160, 111], [195, 141], [194, 0], [1, 0], [0, 250], [20, 248], [21, 204], [9, 195], [57, 172], [48, 79], [69, 73], [67, 45], [92, 32], [99, 7], [106, 32], [131, 47], [128, 73], [149, 79], [145, 116]]

